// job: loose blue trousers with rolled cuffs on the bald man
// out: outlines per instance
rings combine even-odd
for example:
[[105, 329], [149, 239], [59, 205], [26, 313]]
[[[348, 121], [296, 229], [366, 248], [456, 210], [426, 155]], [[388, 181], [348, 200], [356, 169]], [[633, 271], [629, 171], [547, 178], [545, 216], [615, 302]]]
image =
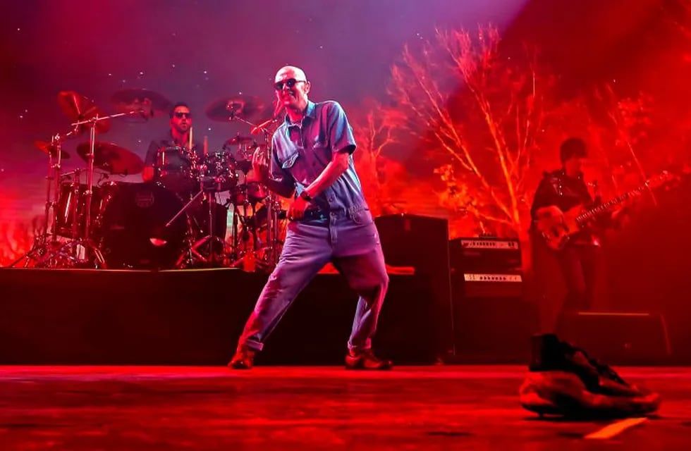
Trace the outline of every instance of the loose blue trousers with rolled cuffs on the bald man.
[[245, 323], [238, 345], [262, 350], [295, 297], [329, 261], [360, 296], [348, 349], [369, 349], [389, 286], [379, 233], [369, 209], [331, 212], [328, 218], [290, 223], [279, 262]]

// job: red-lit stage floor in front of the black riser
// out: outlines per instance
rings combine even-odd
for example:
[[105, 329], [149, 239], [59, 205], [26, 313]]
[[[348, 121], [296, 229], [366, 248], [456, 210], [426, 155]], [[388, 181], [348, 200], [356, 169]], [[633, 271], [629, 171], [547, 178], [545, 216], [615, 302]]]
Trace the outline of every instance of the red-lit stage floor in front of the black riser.
[[691, 445], [691, 369], [623, 368], [664, 395], [659, 416], [546, 421], [523, 410], [522, 366], [1, 366], [0, 447], [61, 450], [531, 449]]

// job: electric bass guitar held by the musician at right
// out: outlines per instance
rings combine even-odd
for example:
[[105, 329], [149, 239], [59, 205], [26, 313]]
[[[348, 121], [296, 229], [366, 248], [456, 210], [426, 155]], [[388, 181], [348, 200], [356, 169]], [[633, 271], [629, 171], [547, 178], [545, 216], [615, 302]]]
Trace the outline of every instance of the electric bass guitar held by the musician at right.
[[535, 225], [549, 248], [561, 250], [575, 233], [587, 228], [589, 223], [592, 223], [599, 216], [611, 213], [618, 204], [639, 195], [643, 190], [661, 187], [676, 178], [676, 175], [663, 171], [659, 175], [646, 180], [643, 185], [640, 185], [635, 190], [625, 192], [608, 202], [604, 202], [604, 204], [599, 204], [590, 209], [577, 205], [567, 211], [561, 211], [556, 205], [544, 206], [535, 212], [537, 216]]

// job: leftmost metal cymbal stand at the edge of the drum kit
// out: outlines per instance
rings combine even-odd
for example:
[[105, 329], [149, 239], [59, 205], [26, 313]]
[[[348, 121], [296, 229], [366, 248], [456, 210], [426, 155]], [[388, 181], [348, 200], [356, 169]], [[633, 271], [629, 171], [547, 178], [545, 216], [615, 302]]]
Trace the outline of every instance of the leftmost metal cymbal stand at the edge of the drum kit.
[[[34, 244], [23, 256], [13, 261], [9, 267], [12, 268], [24, 260], [24, 268], [29, 266], [30, 261], [36, 261], [36, 266], [43, 266], [51, 257], [51, 250], [57, 246], [58, 235], [56, 230], [57, 212], [55, 207], [57, 205], [57, 196], [60, 192], [60, 179], [62, 167], [62, 142], [71, 135], [77, 133], [78, 128], [75, 127], [65, 135], [56, 133], [51, 136], [51, 142], [48, 149], [48, 175], [46, 176], [46, 204], [44, 208], [44, 230], [40, 235], [34, 238]], [[54, 156], [55, 154], [55, 160]], [[54, 186], [53, 186], [54, 185]], [[52, 191], [52, 192], [51, 192]], [[50, 230], [50, 231], [49, 231]], [[49, 242], [50, 236], [50, 242]]]

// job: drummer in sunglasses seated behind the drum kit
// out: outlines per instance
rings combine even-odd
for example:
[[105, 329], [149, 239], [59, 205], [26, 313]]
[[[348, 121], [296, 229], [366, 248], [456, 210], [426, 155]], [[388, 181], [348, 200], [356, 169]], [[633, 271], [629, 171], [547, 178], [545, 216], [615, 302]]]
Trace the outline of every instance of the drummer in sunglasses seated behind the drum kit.
[[202, 157], [203, 148], [192, 140], [192, 113], [188, 104], [176, 103], [170, 116], [170, 132], [149, 144], [142, 178], [145, 182], [158, 181], [181, 197], [187, 197], [198, 189], [190, 171], [192, 154]]

